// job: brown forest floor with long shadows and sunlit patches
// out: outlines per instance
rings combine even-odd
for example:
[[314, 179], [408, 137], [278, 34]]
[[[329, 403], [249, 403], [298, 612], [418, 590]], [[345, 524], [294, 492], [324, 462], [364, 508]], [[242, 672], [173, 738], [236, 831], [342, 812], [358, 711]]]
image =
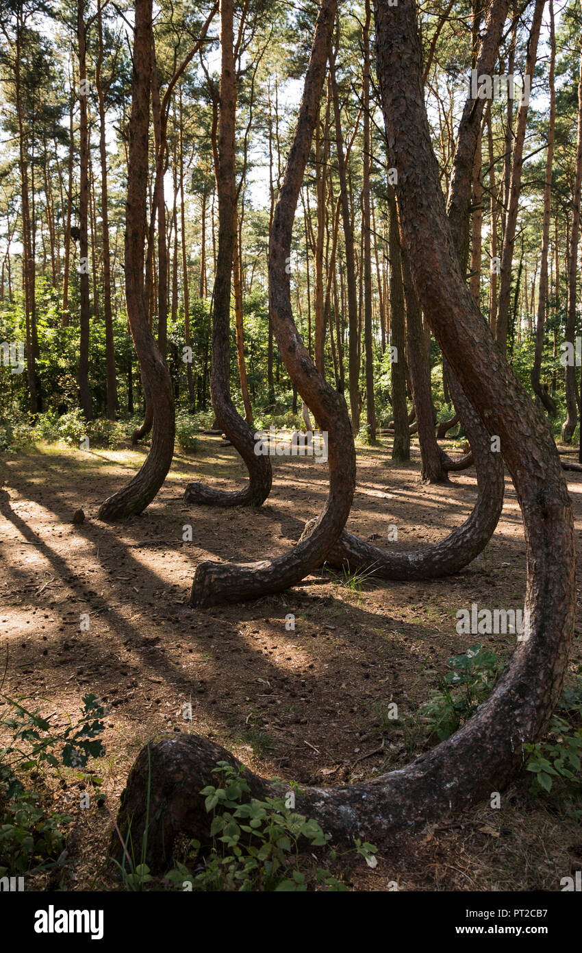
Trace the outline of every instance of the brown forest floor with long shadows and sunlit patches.
[[[456, 611], [473, 602], [523, 606], [523, 524], [508, 476], [493, 540], [452, 578], [362, 584], [317, 573], [278, 596], [191, 609], [202, 560], [265, 558], [297, 541], [325, 500], [327, 467], [272, 457], [273, 492], [261, 509], [184, 506], [192, 479], [232, 489], [245, 478], [235, 450], [204, 436], [195, 455], [175, 456], [142, 517], [100, 523], [100, 503], [133, 476], [144, 455], [142, 448], [41, 444], [1, 457], [2, 669], [8, 652], [2, 692], [59, 713], [62, 725], [79, 713], [87, 692], [110, 706], [107, 755], [92, 763], [109, 810], [94, 803], [72, 812], [59, 874], [65, 889], [116, 888], [106, 870], [111, 814], [146, 741], [192, 731], [265, 776], [300, 784], [375, 777], [426, 747], [421, 723], [406, 717], [429, 699], [449, 657], [475, 642], [502, 659], [512, 652], [511, 634], [457, 635]], [[385, 439], [360, 447], [349, 529], [388, 545], [388, 527], [396, 524], [398, 543], [389, 545], [399, 549], [447, 535], [475, 503], [475, 469], [438, 487], [421, 486], [418, 474], [416, 441], [405, 465], [390, 460]], [[582, 475], [566, 476], [579, 537]], [[73, 525], [78, 508], [86, 519]], [[183, 539], [186, 524], [191, 542]], [[80, 631], [86, 613], [89, 628]], [[291, 613], [295, 631], [285, 629]], [[580, 660], [576, 638], [572, 672]], [[396, 722], [387, 717], [393, 701]], [[183, 717], [188, 702], [191, 722]], [[55, 808], [71, 812], [87, 784], [70, 769], [60, 775], [51, 797]], [[498, 810], [485, 803], [395, 838], [379, 849], [375, 869], [361, 858], [331, 869], [342, 869], [360, 890], [387, 890], [389, 882], [399, 890], [559, 890], [560, 879], [582, 866], [582, 830], [553, 794], [532, 793], [531, 777], [515, 781]], [[36, 889], [55, 886], [58, 879], [40, 875]]]

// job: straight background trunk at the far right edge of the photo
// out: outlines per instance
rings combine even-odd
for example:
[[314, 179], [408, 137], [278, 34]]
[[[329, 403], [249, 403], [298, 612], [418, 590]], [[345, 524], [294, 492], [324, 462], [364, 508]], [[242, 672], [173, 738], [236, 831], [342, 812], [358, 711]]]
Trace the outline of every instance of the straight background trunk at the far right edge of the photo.
[[[576, 165], [572, 194], [572, 229], [570, 232], [570, 254], [568, 257], [568, 317], [566, 321], [566, 340], [574, 345], [576, 333], [576, 280], [578, 274], [578, 240], [580, 236], [580, 187], [582, 184], [582, 54], [580, 56], [580, 75], [578, 80], [578, 134], [576, 145]], [[578, 404], [575, 364], [566, 364], [566, 407], [568, 417], [562, 425], [562, 440], [572, 441], [578, 422]], [[580, 440], [582, 447], [582, 440]]]

